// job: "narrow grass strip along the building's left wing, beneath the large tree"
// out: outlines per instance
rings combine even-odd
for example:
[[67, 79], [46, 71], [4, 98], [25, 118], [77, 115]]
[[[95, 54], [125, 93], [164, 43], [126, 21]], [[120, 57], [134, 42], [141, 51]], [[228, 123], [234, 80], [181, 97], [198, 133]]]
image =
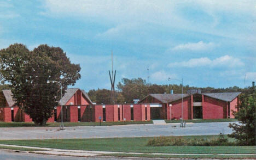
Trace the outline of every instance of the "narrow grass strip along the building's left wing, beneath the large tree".
[[[128, 121], [128, 122], [101, 122], [102, 126], [152, 124], [153, 121]], [[49, 122], [47, 127], [59, 127], [60, 122]], [[72, 126], [100, 126], [100, 122], [63, 122], [65, 127]], [[34, 127], [33, 122], [0, 122], [0, 127]]]

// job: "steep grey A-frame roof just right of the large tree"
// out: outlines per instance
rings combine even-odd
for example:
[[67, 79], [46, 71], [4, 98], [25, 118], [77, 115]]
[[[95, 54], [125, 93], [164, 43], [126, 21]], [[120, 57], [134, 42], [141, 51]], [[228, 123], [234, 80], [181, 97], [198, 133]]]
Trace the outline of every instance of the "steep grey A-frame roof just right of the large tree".
[[[77, 92], [78, 90], [79, 90], [79, 88], [66, 89], [66, 93], [60, 100], [60, 104], [62, 106], [64, 106], [72, 98], [72, 96], [75, 94], [75, 92]], [[85, 91], [84, 90], [81, 90], [81, 91], [82, 91], [83, 95], [86, 97], [86, 99], [89, 101], [89, 103], [92, 104], [92, 101], [90, 100], [89, 96], [85, 93]]]

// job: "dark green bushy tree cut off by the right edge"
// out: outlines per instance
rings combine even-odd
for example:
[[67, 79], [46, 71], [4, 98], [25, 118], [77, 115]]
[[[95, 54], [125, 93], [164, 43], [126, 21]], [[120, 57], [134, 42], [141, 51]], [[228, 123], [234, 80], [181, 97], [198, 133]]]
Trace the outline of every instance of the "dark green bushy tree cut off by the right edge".
[[[248, 90], [249, 91], [249, 90]], [[240, 95], [238, 112], [234, 112], [235, 118], [241, 121], [239, 124], [230, 124], [234, 131], [229, 137], [235, 138], [239, 145], [255, 145], [256, 143], [256, 93]]]

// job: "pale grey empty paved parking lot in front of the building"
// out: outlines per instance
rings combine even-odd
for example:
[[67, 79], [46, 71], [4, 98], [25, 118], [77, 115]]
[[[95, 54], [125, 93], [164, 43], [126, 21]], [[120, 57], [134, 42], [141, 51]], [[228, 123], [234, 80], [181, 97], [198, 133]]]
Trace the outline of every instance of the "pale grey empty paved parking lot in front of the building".
[[[214, 135], [220, 132], [229, 134], [229, 122], [210, 122], [166, 125], [127, 125], [127, 126], [81, 126], [66, 127], [12, 127], [0, 128], [0, 139], [63, 139], [63, 138], [111, 138], [111, 137], [155, 137], [155, 136], [190, 136]], [[176, 127], [174, 127], [176, 126]]]

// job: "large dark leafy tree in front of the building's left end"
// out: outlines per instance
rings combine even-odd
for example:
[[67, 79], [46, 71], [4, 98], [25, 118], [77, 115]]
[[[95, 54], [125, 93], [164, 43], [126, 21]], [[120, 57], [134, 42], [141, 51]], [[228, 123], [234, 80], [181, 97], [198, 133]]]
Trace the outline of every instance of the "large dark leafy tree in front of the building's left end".
[[25, 45], [14, 44], [0, 51], [2, 81], [11, 85], [17, 106], [37, 125], [45, 125], [68, 85], [80, 78], [79, 64], [72, 64], [60, 47], [40, 45], [29, 51]]

